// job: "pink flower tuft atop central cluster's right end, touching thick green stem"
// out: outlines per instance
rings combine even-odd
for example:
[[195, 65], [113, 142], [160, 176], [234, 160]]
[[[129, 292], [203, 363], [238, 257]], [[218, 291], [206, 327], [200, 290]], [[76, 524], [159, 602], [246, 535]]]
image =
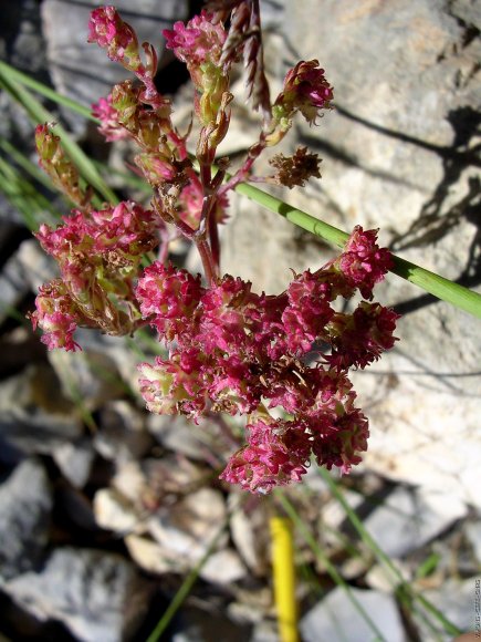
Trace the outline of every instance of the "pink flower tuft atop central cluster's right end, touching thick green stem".
[[374, 286], [383, 281], [394, 265], [389, 250], [379, 248], [376, 240], [376, 229], [364, 231], [358, 225], [354, 228], [343, 253], [334, 261], [334, 266], [347, 282], [369, 300], [373, 298]]

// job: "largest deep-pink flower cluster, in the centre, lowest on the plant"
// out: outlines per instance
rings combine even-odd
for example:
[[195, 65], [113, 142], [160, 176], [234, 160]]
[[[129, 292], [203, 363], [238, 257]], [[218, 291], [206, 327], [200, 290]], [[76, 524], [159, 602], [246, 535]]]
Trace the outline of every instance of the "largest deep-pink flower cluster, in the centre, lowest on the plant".
[[[380, 280], [389, 265], [376, 248], [376, 231], [357, 227], [337, 260], [299, 275], [278, 297], [257, 294], [231, 276], [206, 289], [186, 270], [148, 267], [136, 297], [171, 350], [169, 359], [139, 366], [147, 407], [195, 421], [209, 411], [248, 415], [248, 445], [222, 478], [252, 491], [299, 480], [311, 455], [348, 470], [366, 449], [368, 428], [347, 370], [393, 346], [397, 314], [367, 301], [341, 313], [332, 302], [356, 289], [370, 296], [373, 273]], [[353, 272], [354, 257], [362, 269]], [[331, 351], [307, 365], [316, 342]], [[275, 420], [273, 408], [290, 418]]]

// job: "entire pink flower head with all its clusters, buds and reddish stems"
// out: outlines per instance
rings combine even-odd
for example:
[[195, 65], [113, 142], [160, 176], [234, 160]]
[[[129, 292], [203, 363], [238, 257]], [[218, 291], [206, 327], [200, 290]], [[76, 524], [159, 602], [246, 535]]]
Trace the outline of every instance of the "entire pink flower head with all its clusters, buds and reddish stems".
[[[268, 493], [300, 480], [312, 457], [342, 472], [360, 460], [368, 422], [355, 406], [348, 372], [393, 348], [398, 315], [373, 301], [393, 259], [378, 247], [377, 230], [359, 226], [336, 259], [294, 275], [276, 296], [255, 293], [250, 282], [220, 272], [218, 225], [227, 220], [228, 191], [251, 178], [255, 159], [287, 134], [296, 113], [313, 124], [333, 100], [312, 60], [289, 71], [271, 103], [261, 31], [253, 25], [260, 27], [258, 0], [216, 1], [210, 11], [164, 32], [195, 86], [201, 128], [192, 158], [187, 136], [172, 125], [170, 102], [154, 82], [154, 48], [144, 43], [140, 54], [134, 30], [114, 7], [92, 12], [88, 40], [135, 76], [115, 85], [93, 113], [107, 141], [136, 143], [135, 164], [154, 196], [148, 209], [133, 201], [94, 208], [92, 190], [82, 187], [60, 139], [39, 125], [40, 163], [75, 209], [63, 225], [43, 225], [36, 234], [61, 278], [41, 288], [31, 319], [49, 349], [72, 351], [80, 349], [77, 327], [125, 335], [149, 324], [168, 358], [138, 366], [147, 408], [195, 422], [212, 413], [245, 415], [245, 445], [221, 478]], [[262, 126], [243, 165], [228, 177], [229, 161], [217, 157], [217, 147], [231, 117], [231, 69], [241, 60]], [[271, 164], [279, 172], [266, 183], [293, 187], [320, 176], [317, 156], [306, 148]], [[203, 280], [169, 262], [169, 244], [178, 237], [196, 245]], [[145, 256], [156, 249], [158, 259], [145, 267]], [[354, 311], [339, 312], [338, 300], [355, 293], [362, 301]]]

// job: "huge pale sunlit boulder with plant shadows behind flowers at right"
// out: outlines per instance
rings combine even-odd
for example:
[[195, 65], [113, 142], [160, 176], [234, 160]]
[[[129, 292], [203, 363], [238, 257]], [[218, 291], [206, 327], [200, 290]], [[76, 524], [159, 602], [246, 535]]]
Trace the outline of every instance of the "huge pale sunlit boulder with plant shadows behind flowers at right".
[[[285, 199], [345, 230], [380, 228], [381, 245], [402, 258], [479, 290], [479, 3], [280, 4], [281, 41], [269, 42], [276, 56], [268, 60], [273, 63], [271, 71], [280, 83], [297, 60], [318, 59], [337, 107], [318, 128], [300, 118], [286, 138], [291, 153], [307, 145], [320, 154], [323, 177], [285, 190]], [[232, 203], [222, 268], [257, 290], [275, 293], [290, 267], [315, 269], [333, 256], [281, 217], [247, 199]], [[366, 465], [437, 491], [448, 487], [480, 507], [479, 322], [395, 276], [378, 298], [405, 317], [397, 348], [353, 376], [370, 420]]]

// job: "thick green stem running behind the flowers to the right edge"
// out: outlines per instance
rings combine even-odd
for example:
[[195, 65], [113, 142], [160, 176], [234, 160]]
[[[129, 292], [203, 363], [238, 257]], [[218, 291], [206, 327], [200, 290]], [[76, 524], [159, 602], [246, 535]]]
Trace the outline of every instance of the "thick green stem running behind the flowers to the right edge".
[[[343, 247], [349, 237], [345, 231], [318, 220], [301, 209], [292, 207], [287, 203], [262, 191], [262, 189], [253, 185], [242, 183], [236, 187], [236, 191], [255, 200], [255, 203], [259, 203], [259, 205], [262, 205], [266, 209], [280, 214], [294, 225], [337, 247]], [[426, 290], [426, 292], [433, 294], [438, 299], [447, 301], [456, 308], [481, 319], [481, 294], [399, 257], [394, 257], [394, 260], [395, 266], [390, 270], [393, 273], [422, 288], [422, 290]]]

